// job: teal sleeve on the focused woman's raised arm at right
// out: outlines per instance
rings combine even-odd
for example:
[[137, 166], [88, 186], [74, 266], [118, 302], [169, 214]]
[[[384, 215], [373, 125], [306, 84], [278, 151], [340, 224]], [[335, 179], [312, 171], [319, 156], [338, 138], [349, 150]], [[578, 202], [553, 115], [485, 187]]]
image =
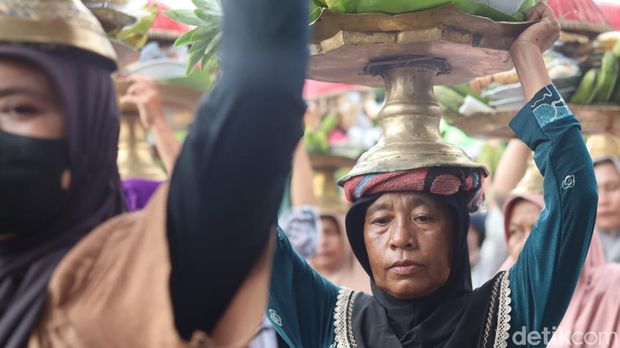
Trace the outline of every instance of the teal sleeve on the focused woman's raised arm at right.
[[555, 87], [541, 90], [510, 126], [534, 150], [545, 199], [545, 209], [510, 269], [512, 337], [559, 326], [590, 246], [597, 192], [579, 122]]

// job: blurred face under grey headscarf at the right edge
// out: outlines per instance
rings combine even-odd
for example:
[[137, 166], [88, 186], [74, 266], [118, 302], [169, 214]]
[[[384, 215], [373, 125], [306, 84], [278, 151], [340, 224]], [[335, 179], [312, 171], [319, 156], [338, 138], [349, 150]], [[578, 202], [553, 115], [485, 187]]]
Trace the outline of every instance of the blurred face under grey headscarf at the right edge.
[[603, 231], [620, 229], [620, 173], [610, 162], [594, 167], [598, 183], [596, 226]]

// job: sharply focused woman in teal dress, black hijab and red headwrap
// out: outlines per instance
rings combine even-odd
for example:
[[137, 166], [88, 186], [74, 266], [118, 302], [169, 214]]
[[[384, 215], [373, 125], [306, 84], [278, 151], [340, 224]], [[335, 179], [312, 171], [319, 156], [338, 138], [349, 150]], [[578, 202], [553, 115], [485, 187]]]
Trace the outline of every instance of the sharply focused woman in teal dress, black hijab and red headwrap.
[[518, 262], [472, 290], [468, 213], [481, 199], [481, 169], [345, 177], [353, 203], [347, 234], [373, 296], [320, 277], [280, 231], [267, 314], [291, 346], [542, 347], [551, 339], [588, 251], [597, 193], [579, 122], [542, 59], [558, 38], [558, 21], [543, 3], [528, 18], [538, 22], [511, 55], [530, 101], [511, 127], [535, 151], [547, 208]]

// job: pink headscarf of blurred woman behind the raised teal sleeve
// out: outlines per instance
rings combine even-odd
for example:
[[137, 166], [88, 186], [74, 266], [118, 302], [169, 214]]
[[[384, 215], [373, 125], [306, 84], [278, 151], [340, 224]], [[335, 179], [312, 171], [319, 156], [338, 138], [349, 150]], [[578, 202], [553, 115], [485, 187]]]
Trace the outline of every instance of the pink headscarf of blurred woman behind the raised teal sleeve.
[[[508, 242], [508, 221], [519, 199], [543, 207], [543, 196], [516, 195], [504, 205], [504, 232]], [[501, 270], [514, 264], [508, 257]], [[595, 231], [590, 250], [575, 288], [570, 305], [549, 348], [617, 348], [620, 347], [620, 264], [605, 261], [603, 246]], [[586, 335], [587, 334], [587, 335]], [[588, 342], [596, 339], [595, 344]]]

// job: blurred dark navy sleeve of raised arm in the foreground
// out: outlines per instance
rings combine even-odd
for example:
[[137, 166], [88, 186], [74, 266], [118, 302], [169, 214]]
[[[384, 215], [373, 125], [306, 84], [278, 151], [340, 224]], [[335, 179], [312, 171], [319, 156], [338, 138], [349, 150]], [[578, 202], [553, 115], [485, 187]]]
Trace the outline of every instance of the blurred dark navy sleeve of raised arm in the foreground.
[[221, 75], [168, 198], [179, 334], [211, 333], [267, 245], [302, 135], [307, 0], [226, 0]]

